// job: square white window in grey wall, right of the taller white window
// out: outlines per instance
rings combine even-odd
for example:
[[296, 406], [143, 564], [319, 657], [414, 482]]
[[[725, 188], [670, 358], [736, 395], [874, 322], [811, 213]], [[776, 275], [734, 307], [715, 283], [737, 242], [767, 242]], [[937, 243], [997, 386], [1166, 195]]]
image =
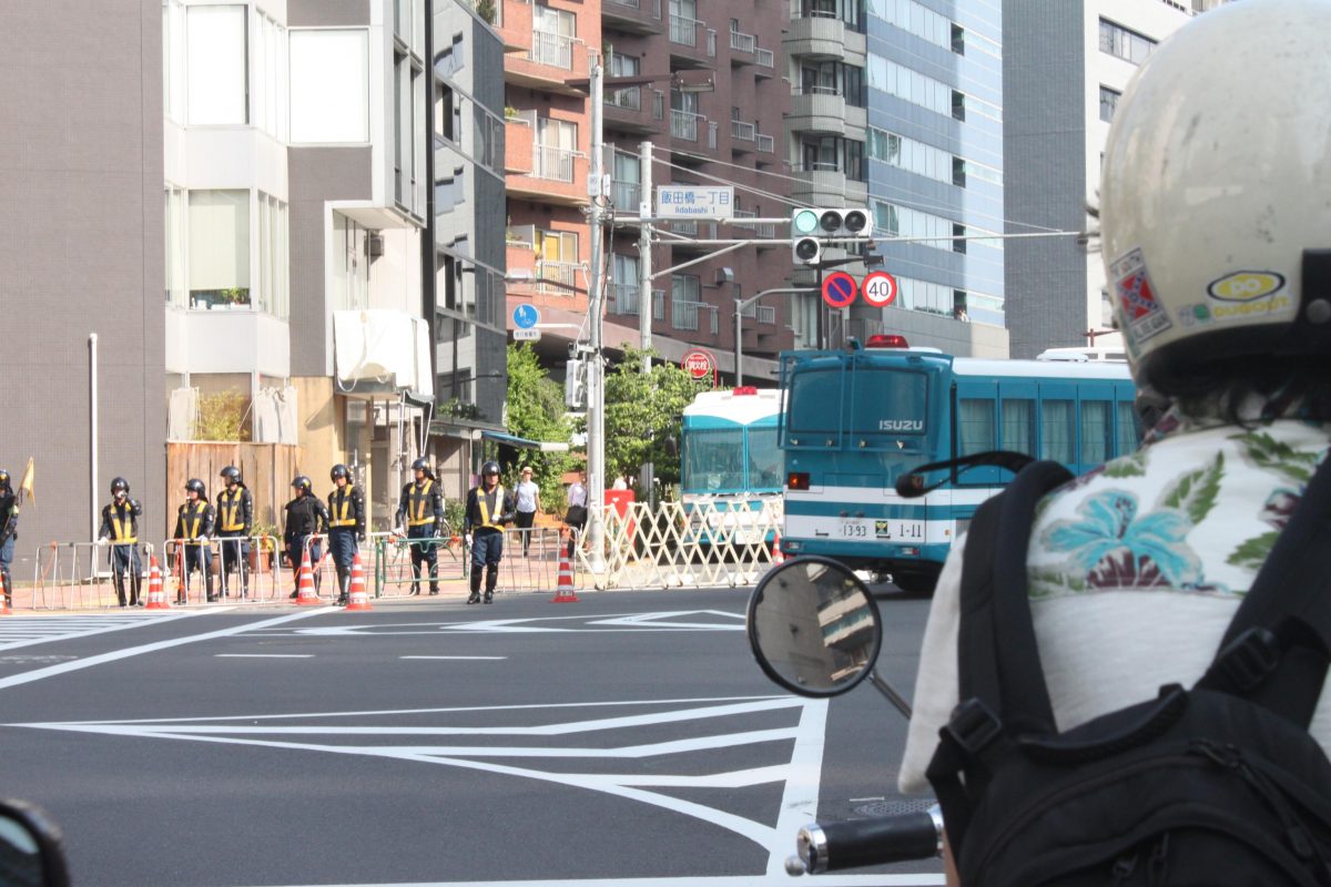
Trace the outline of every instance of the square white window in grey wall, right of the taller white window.
[[290, 45], [291, 142], [369, 141], [370, 47], [366, 31], [291, 31]]

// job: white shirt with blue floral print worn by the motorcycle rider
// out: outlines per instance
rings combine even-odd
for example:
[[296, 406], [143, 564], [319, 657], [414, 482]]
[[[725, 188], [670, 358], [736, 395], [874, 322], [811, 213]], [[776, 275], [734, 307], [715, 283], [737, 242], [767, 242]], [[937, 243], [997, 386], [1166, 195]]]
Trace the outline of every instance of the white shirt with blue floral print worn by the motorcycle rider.
[[[1135, 453], [1045, 497], [1026, 564], [1061, 730], [1205, 673], [1328, 444], [1331, 428], [1298, 419], [1243, 428], [1170, 412]], [[961, 551], [944, 567], [925, 628], [906, 791], [928, 789], [924, 770], [958, 702]], [[1331, 753], [1326, 696], [1312, 733]]]

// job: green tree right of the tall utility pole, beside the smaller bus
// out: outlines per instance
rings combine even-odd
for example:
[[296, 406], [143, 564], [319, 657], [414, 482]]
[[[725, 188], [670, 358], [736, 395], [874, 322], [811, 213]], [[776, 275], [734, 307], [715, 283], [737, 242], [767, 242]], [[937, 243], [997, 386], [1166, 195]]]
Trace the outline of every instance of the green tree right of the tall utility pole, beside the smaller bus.
[[[684, 407], [707, 386], [695, 382], [673, 363], [654, 363], [643, 372], [638, 348], [606, 375], [606, 473], [631, 479], [648, 461], [655, 463], [663, 484], [679, 483], [679, 443]], [[608, 483], [607, 483], [608, 485]]]

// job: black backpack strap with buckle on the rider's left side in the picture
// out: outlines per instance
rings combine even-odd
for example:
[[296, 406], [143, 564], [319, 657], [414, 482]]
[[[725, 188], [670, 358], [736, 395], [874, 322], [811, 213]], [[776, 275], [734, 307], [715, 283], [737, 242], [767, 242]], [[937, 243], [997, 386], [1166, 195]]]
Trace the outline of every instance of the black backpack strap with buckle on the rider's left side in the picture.
[[[961, 705], [940, 731], [926, 775], [960, 852], [972, 798], [989, 779], [988, 761], [1022, 733], [1054, 731], [1026, 590], [1026, 549], [1036, 505], [1073, 475], [1055, 461], [1024, 468], [976, 509], [961, 569], [957, 665]], [[965, 773], [965, 785], [960, 777]]]

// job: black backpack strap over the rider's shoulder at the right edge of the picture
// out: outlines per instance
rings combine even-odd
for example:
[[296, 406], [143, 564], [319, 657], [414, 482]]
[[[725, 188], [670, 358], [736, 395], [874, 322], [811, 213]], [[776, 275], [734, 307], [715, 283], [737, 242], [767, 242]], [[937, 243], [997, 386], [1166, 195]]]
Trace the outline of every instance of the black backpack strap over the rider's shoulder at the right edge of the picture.
[[1308, 481], [1290, 523], [1198, 681], [1283, 715], [1312, 721], [1331, 662], [1331, 459]]

